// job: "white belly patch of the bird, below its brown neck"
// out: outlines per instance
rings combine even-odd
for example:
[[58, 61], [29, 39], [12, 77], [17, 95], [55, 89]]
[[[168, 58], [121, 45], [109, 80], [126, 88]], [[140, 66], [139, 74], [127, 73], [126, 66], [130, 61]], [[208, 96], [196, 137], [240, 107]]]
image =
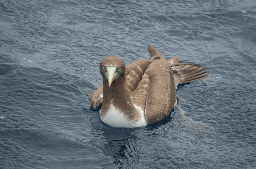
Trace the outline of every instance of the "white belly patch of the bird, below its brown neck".
[[[105, 115], [104, 118], [100, 118], [105, 124], [108, 124], [112, 127], [142, 127], [146, 126], [147, 122], [145, 120], [145, 114], [140, 107], [134, 105], [134, 107], [140, 112], [140, 119], [138, 121], [129, 121], [123, 113], [117, 110], [113, 105], [110, 106], [109, 112]], [[100, 112], [101, 113], [101, 110]]]

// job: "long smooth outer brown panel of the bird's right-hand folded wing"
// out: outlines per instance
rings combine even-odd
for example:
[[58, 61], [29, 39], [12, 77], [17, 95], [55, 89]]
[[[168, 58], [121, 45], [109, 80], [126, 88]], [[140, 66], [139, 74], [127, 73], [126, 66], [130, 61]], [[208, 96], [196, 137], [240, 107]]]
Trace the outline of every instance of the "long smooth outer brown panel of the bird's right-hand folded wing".
[[153, 124], [169, 115], [176, 102], [176, 90], [172, 69], [166, 60], [154, 60], [148, 71], [150, 82], [145, 118], [148, 124]]

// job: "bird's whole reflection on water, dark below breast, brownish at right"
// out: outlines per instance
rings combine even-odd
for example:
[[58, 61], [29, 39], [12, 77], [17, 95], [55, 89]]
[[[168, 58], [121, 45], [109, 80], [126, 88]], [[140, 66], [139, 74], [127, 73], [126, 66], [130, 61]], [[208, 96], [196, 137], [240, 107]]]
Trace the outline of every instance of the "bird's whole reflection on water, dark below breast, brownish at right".
[[104, 124], [99, 119], [99, 110], [93, 110], [94, 114], [90, 119], [90, 133], [95, 137], [90, 144], [100, 149], [104, 155], [113, 157], [113, 163], [119, 168], [143, 168], [140, 159], [145, 158], [145, 144], [148, 141], [152, 144], [148, 146], [152, 148], [159, 146], [159, 143], [165, 143], [166, 139], [177, 137], [180, 132], [200, 138], [209, 134], [207, 124], [186, 117], [180, 106], [175, 107], [167, 118], [156, 124], [131, 129]]

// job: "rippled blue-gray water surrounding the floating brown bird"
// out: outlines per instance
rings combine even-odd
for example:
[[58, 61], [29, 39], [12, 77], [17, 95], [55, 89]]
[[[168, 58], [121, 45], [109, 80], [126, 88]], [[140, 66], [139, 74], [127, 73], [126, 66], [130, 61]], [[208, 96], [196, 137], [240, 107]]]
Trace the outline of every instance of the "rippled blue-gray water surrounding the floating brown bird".
[[[108, 127], [90, 109], [99, 62], [148, 58], [147, 44], [209, 77], [178, 87], [189, 118], [175, 109], [147, 127]], [[1, 169], [253, 169], [255, 161], [255, 0], [0, 0]]]

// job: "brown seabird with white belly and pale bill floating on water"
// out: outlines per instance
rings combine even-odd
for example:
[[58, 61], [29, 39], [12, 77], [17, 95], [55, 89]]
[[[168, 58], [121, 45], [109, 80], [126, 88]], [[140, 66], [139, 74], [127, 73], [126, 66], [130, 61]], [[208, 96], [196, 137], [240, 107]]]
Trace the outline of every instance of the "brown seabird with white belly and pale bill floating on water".
[[177, 104], [179, 84], [208, 77], [207, 69], [191, 63], [169, 60], [148, 44], [150, 58], [128, 66], [117, 56], [107, 56], [99, 64], [103, 85], [91, 96], [103, 123], [111, 127], [143, 127], [166, 118]]

